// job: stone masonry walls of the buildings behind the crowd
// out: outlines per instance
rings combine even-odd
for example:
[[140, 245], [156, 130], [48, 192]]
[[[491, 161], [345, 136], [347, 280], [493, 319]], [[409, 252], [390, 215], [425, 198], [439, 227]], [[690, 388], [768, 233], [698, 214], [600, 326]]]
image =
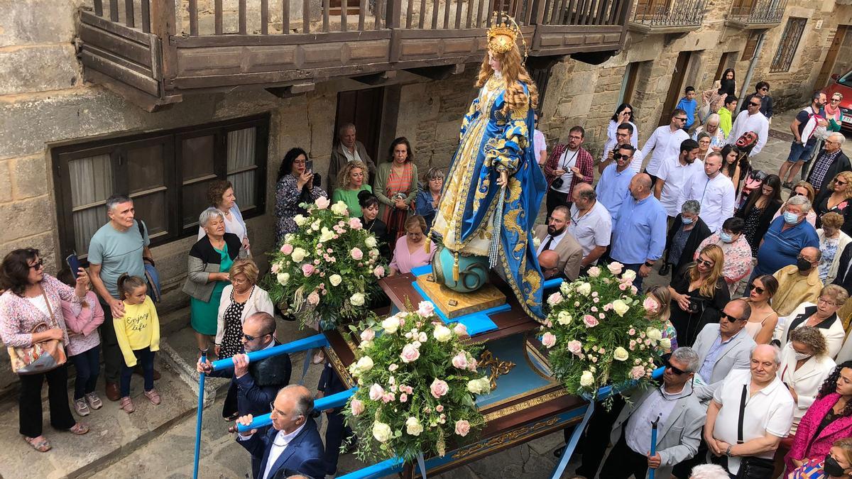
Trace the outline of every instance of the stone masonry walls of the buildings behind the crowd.
[[[147, 113], [107, 89], [83, 81], [75, 50], [76, 12], [82, 3], [0, 3], [0, 253], [18, 247], [38, 248], [53, 273], [67, 251], [73, 249], [60, 227], [73, 220], [61, 217], [72, 208], [64, 205], [66, 197], [57, 193], [57, 179], [68, 174], [56, 161], [54, 153], [59, 149], [261, 115], [268, 118], [267, 154], [262, 164], [265, 174], [260, 176], [265, 179], [265, 206], [247, 222], [252, 250], [263, 266], [259, 253], [273, 248], [275, 181], [284, 153], [291, 147], [302, 147], [314, 162], [314, 170], [325, 173], [338, 94], [368, 87], [353, 80], [336, 80], [291, 98], [279, 98], [263, 89], [240, 89], [188, 97], [164, 111]], [[601, 65], [570, 58], [556, 63], [540, 107], [540, 128], [550, 145], [564, 141], [573, 124], [582, 124], [589, 132], [587, 146], [599, 153], [607, 120], [625, 84], [625, 72], [636, 62], [641, 64], [633, 68], [636, 86], [630, 101], [638, 113], [641, 142], [658, 123], [682, 51], [694, 52], [685, 84], [694, 84], [699, 90], [709, 88], [720, 57], [727, 52], [732, 54], [732, 66], [741, 81], [748, 66], [747, 60], [741, 60], [741, 52], [749, 32], [725, 26], [728, 8], [729, 0], [712, 0], [702, 26], [680, 38], [630, 32], [624, 51]], [[789, 72], [769, 72], [788, 16], [808, 19], [807, 26]], [[816, 29], [819, 21], [821, 28]], [[754, 81], [764, 79], [773, 85], [772, 94], [779, 107], [803, 104], [838, 24], [852, 24], [852, 8], [830, 0], [793, 0], [781, 26], [769, 31]], [[848, 58], [838, 61], [849, 64]], [[385, 149], [394, 137], [406, 136], [412, 141], [421, 170], [449, 164], [458, 142], [460, 118], [475, 95], [478, 69], [479, 65], [469, 64], [463, 72], [437, 81], [402, 72], [381, 87], [377, 161], [387, 159]], [[102, 220], [106, 222], [106, 216]], [[180, 288], [193, 241], [193, 236], [185, 234], [153, 248], [166, 293], [161, 312], [187, 303]], [[14, 379], [5, 369], [2, 371], [0, 390]]]

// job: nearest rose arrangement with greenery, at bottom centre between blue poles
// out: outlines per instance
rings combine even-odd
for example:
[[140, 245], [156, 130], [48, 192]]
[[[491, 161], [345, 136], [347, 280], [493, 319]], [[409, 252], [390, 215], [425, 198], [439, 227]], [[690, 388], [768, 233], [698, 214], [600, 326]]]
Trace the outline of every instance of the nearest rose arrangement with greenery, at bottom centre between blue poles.
[[363, 321], [360, 351], [349, 367], [359, 390], [344, 413], [358, 436], [361, 460], [446, 453], [485, 424], [475, 396], [491, 391], [476, 370], [481, 347], [463, 344], [467, 330], [444, 326], [432, 303], [376, 323]]

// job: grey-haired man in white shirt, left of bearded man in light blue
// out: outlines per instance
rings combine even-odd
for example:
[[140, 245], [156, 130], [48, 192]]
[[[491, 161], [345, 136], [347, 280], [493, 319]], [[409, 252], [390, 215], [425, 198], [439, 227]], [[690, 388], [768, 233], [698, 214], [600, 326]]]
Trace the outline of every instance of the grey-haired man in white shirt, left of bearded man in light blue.
[[574, 187], [571, 222], [568, 234], [583, 248], [581, 266], [597, 264], [597, 259], [607, 251], [609, 239], [613, 235], [613, 221], [607, 207], [598, 203], [595, 188], [589, 183], [579, 183]]

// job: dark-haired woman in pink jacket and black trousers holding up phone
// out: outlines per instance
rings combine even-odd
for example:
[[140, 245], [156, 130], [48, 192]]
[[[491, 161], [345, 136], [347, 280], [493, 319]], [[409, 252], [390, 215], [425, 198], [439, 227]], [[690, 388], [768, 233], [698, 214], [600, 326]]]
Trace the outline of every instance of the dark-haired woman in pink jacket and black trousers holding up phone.
[[[0, 339], [9, 348], [30, 348], [43, 341], [58, 340], [68, 344], [61, 301], [82, 303], [86, 297], [89, 275], [79, 268], [75, 286], [67, 286], [44, 272], [44, 261], [38, 250], [14, 250], [0, 263]], [[38, 327], [39, 325], [47, 325]], [[42, 436], [42, 384], [48, 384], [50, 425], [83, 435], [89, 426], [78, 423], [68, 403], [68, 371], [65, 364], [35, 374], [19, 374], [18, 431], [24, 441], [39, 453], [50, 450]]]

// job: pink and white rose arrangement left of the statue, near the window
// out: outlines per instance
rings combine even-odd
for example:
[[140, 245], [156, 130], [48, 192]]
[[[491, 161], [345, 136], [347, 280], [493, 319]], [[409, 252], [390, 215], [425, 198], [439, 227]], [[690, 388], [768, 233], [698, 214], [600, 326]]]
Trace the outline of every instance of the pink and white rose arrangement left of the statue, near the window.
[[300, 206], [308, 216], [296, 215], [296, 233], [269, 253], [272, 272], [262, 286], [302, 326], [326, 330], [363, 318], [386, 271], [376, 237], [343, 201], [321, 197]]

